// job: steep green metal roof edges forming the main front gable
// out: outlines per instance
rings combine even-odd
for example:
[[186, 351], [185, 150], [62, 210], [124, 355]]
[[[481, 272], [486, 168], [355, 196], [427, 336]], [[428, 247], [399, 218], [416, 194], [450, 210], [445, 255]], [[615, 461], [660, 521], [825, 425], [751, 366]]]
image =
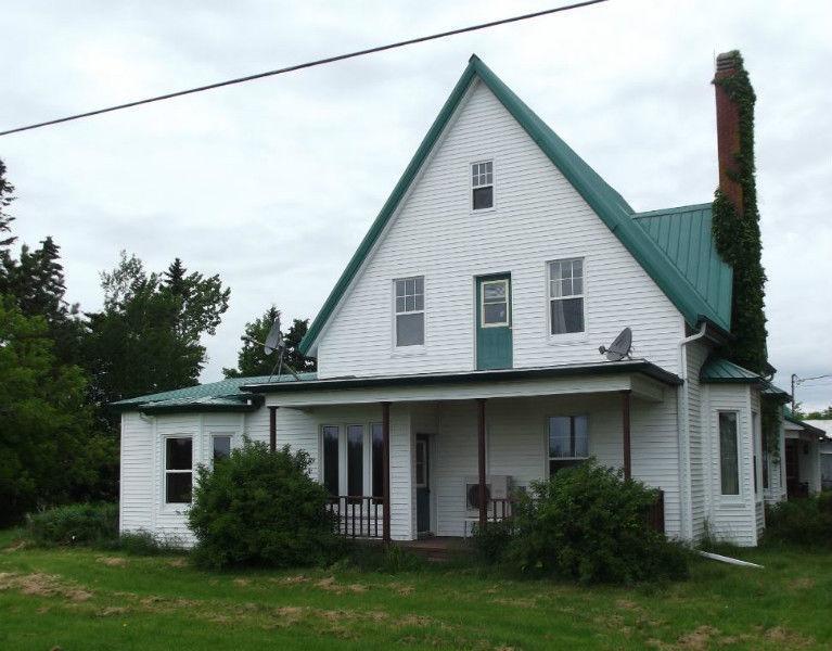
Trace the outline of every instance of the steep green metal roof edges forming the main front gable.
[[[309, 354], [321, 330], [393, 217], [474, 78], [478, 78], [497, 97], [507, 111], [525, 129], [526, 133], [641, 264], [691, 326], [695, 327], [703, 319], [707, 319], [726, 331], [730, 330], [730, 314], [726, 315], [724, 310], [715, 307], [721, 305], [720, 299], [709, 295], [703, 296], [697, 291], [696, 283], [690, 280], [687, 272], [683, 272], [671, 257], [660, 247], [648, 234], [648, 231], [637, 222], [638, 219], [632, 218], [633, 210], [624, 197], [587, 165], [532, 108], [523, 103], [488, 66], [476, 55], [473, 55], [381, 213], [361, 240], [358, 250], [338, 278], [320, 312], [309, 326], [306, 336], [300, 342], [302, 353]], [[707, 286], [709, 286], [708, 283], [705, 283], [705, 288]]]

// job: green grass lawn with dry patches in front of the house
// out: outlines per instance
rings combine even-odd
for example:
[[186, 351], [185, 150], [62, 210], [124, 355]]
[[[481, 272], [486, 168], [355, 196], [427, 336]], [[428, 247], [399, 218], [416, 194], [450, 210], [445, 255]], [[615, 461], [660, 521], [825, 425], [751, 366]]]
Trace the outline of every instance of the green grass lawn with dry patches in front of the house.
[[0, 532], [0, 649], [832, 647], [832, 554], [742, 557], [766, 569], [702, 560], [683, 583], [583, 588], [450, 566], [220, 574]]

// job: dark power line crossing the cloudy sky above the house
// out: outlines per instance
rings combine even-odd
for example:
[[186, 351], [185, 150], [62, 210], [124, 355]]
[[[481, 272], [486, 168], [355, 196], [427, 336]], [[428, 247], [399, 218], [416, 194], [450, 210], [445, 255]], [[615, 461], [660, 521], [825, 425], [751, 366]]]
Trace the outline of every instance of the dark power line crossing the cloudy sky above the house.
[[439, 31], [438, 34], [432, 34], [430, 36], [420, 36], [417, 38], [410, 38], [408, 40], [398, 41], [395, 43], [388, 43], [386, 46], [375, 46], [373, 48], [367, 48], [364, 50], [357, 50], [347, 54], [336, 54], [335, 56], [327, 56], [325, 59], [318, 59], [316, 61], [308, 61], [306, 63], [298, 63], [274, 71], [267, 71], [265, 73], [257, 73], [255, 75], [247, 75], [245, 77], [236, 77], [234, 79], [226, 79], [225, 81], [217, 81], [215, 84], [208, 84], [206, 86], [197, 86], [195, 88], [189, 88], [187, 90], [177, 90], [162, 95], [146, 98], [144, 100], [136, 100], [135, 102], [127, 102], [126, 104], [116, 104], [115, 106], [107, 106], [105, 108], [97, 108], [94, 111], [88, 111], [86, 113], [77, 113], [75, 115], [68, 115], [66, 117], [59, 117], [42, 123], [36, 123], [34, 125], [27, 125], [24, 127], [15, 127], [13, 129], [7, 129], [0, 131], [0, 136], [8, 136], [10, 133], [17, 133], [20, 131], [28, 131], [31, 129], [39, 129], [41, 127], [48, 127], [50, 125], [56, 125], [60, 123], [71, 122], [74, 119], [81, 119], [82, 117], [92, 117], [93, 115], [101, 115], [102, 113], [111, 113], [113, 111], [120, 111], [123, 108], [131, 108], [133, 106], [141, 106], [142, 104], [151, 104], [153, 102], [161, 102], [163, 100], [170, 100], [172, 98], [179, 98], [187, 94], [193, 94], [196, 92], [203, 92], [205, 90], [213, 90], [215, 88], [222, 88], [223, 86], [233, 86], [235, 84], [243, 84], [245, 81], [254, 81], [255, 79], [263, 79], [264, 77], [273, 77], [274, 75], [283, 75], [285, 73], [293, 73], [305, 68], [316, 67], [319, 65], [325, 65], [328, 63], [335, 63], [336, 61], [344, 61], [346, 59], [355, 59], [357, 56], [366, 56], [367, 54], [374, 54], [376, 52], [384, 52], [385, 50], [394, 50], [396, 48], [404, 48], [406, 46], [412, 46], [415, 43], [423, 43], [425, 41], [436, 40], [439, 38], [446, 38], [449, 36], [457, 36], [459, 34], [466, 34], [470, 31], [477, 31], [479, 29], [487, 29], [489, 27], [497, 27], [499, 25], [505, 25], [508, 23], [516, 23], [519, 21], [527, 21], [529, 18], [537, 18], [548, 14], [560, 13], [572, 9], [581, 9], [584, 7], [590, 7], [592, 4], [600, 4], [607, 0], [586, 0], [585, 2], [574, 2], [573, 4], [564, 4], [562, 7], [555, 7], [552, 9], [545, 9], [542, 11], [536, 11], [534, 13], [523, 14], [520, 16], [512, 16], [509, 18], [500, 18], [499, 21], [490, 21], [488, 23], [479, 23], [478, 25], [471, 25], [468, 27], [460, 27], [458, 29], [449, 29], [448, 31]]

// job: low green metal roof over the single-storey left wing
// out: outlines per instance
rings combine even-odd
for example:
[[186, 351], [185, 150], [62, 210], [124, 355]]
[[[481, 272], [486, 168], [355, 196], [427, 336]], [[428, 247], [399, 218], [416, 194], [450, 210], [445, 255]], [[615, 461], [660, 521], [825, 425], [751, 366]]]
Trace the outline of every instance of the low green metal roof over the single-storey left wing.
[[[317, 373], [298, 373], [302, 381], [317, 379]], [[246, 384], [266, 382], [296, 382], [292, 375], [280, 379], [269, 375], [251, 378], [230, 378], [209, 384], [197, 384], [175, 391], [138, 396], [113, 403], [111, 407], [120, 411], [140, 409], [141, 411], [245, 411], [256, 409], [261, 397], [243, 388]]]

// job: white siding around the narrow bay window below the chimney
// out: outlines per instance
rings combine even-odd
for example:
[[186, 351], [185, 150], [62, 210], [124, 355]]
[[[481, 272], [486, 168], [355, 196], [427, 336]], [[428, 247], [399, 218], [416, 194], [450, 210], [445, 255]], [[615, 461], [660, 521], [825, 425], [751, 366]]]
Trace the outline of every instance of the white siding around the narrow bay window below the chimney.
[[[752, 476], [751, 388], [746, 384], [707, 384], [707, 422], [711, 452], [708, 526], [721, 539], [753, 547], [757, 524]], [[719, 474], [719, 411], [737, 411], [740, 495], [722, 495]]]

